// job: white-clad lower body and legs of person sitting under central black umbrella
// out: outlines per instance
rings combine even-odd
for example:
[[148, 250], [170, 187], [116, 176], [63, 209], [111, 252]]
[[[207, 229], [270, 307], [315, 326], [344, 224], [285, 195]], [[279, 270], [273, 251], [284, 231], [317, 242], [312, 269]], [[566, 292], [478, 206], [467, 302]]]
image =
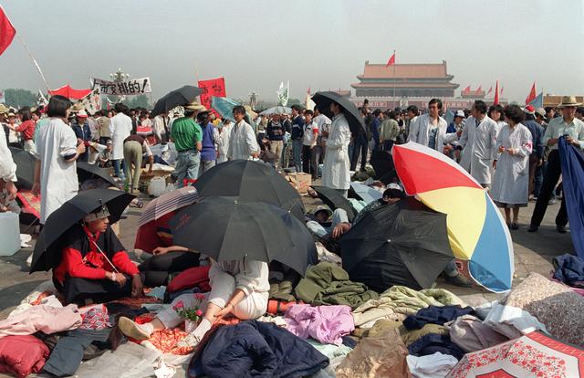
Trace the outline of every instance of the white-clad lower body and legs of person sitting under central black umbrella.
[[215, 320], [233, 314], [241, 320], [255, 320], [266, 313], [270, 284], [268, 266], [265, 262], [234, 260], [217, 262], [211, 260], [209, 280], [211, 291], [201, 296], [183, 294], [172, 301], [172, 307], [163, 310], [156, 318], [138, 324], [129, 318], [120, 317], [120, 331], [135, 340], [146, 340], [153, 331], [174, 328], [183, 322], [176, 310], [178, 303], [185, 309], [199, 309], [203, 320], [178, 346], [195, 346], [211, 330]]

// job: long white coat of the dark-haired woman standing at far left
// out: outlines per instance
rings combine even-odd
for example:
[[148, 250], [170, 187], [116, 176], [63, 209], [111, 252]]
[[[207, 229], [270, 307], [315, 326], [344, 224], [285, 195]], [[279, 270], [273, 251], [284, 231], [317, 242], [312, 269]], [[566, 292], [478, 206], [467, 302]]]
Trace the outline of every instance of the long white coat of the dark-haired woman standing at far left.
[[36, 158], [40, 160], [40, 223], [77, 195], [77, 164], [65, 160], [77, 153], [75, 131], [59, 118], [43, 125], [36, 137]]

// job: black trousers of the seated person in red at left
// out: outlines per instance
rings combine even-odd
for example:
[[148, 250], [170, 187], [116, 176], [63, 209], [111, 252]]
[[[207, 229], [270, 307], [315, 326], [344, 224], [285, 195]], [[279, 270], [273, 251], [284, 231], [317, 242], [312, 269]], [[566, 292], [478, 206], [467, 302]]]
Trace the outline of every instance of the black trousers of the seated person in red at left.
[[85, 299], [91, 299], [95, 303], [109, 302], [112, 299], [130, 297], [131, 277], [126, 276], [124, 286], [118, 285], [109, 279], [73, 278], [65, 279], [61, 285], [57, 279], [53, 279], [55, 288], [63, 293], [67, 303], [78, 303]]

